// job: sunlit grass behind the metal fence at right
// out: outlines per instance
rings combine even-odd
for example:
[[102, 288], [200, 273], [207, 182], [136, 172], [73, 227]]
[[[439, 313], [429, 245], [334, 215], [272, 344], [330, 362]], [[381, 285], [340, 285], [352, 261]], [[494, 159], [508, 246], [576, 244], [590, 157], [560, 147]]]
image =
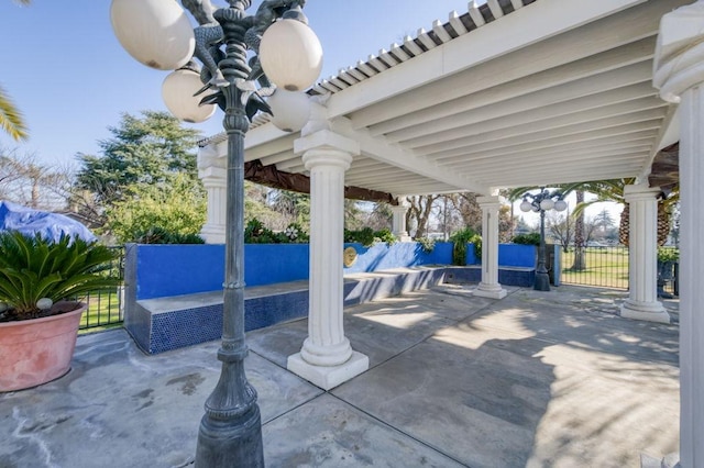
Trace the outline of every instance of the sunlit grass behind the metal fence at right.
[[574, 249], [562, 252], [562, 282], [628, 289], [628, 248], [590, 247], [585, 253], [586, 269], [572, 270]]

